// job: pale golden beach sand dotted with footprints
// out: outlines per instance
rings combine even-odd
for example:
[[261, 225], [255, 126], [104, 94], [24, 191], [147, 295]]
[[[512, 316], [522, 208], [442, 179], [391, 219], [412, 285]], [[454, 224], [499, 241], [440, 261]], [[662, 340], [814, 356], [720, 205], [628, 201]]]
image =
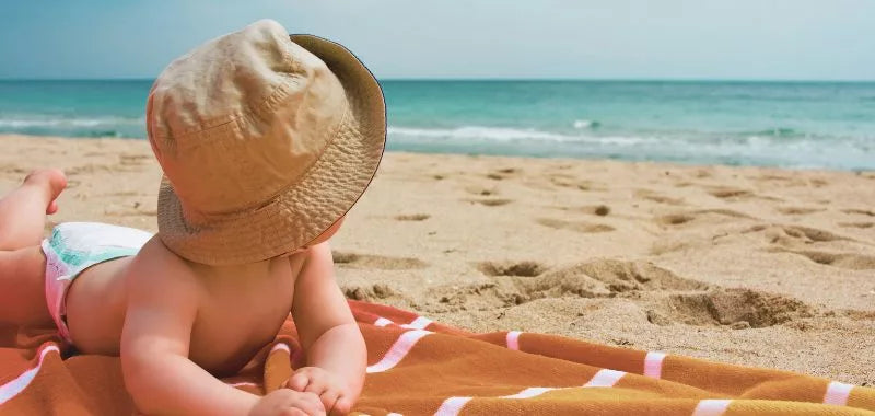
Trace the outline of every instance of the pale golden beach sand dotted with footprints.
[[[0, 193], [156, 230], [144, 140], [0, 136]], [[50, 228], [50, 224], [49, 224]], [[386, 153], [332, 242], [348, 297], [875, 384], [875, 173]]]

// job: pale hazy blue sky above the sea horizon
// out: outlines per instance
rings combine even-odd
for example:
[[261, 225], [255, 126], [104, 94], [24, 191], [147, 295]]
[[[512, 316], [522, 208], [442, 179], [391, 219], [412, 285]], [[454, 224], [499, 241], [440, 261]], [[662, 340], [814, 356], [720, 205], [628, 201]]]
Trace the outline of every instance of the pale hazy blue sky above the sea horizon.
[[264, 18], [381, 79], [875, 81], [870, 0], [0, 0], [0, 79], [152, 79]]

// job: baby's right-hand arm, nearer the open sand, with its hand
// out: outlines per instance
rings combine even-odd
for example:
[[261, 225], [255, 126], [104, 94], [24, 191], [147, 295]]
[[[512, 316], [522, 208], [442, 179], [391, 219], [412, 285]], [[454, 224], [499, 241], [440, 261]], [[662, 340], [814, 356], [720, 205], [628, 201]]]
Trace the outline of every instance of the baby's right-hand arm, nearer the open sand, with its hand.
[[316, 393], [326, 411], [346, 414], [361, 393], [368, 350], [335, 280], [328, 243], [307, 250], [292, 314], [308, 367], [295, 371], [289, 386]]

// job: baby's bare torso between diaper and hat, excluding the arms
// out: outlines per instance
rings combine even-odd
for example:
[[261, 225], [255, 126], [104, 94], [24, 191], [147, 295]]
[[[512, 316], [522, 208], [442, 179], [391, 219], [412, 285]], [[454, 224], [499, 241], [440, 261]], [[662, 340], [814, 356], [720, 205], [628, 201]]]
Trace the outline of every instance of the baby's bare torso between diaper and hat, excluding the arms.
[[[98, 264], [73, 281], [67, 297], [70, 335], [82, 353], [118, 355], [126, 313], [142, 307], [128, 301], [129, 291], [142, 287], [131, 281], [150, 279], [195, 304], [191, 361], [213, 374], [234, 373], [273, 339], [289, 316], [302, 263], [303, 257], [293, 255], [233, 267], [198, 265], [153, 238], [137, 257]], [[140, 303], [142, 294], [137, 297]]]

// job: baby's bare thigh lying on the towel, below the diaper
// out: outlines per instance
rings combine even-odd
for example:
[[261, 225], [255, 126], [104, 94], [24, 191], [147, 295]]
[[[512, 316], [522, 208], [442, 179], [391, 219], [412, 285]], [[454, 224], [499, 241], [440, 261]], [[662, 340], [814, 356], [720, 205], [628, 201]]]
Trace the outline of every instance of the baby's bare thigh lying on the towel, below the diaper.
[[46, 305], [46, 257], [38, 245], [0, 251], [0, 322], [52, 325]]

